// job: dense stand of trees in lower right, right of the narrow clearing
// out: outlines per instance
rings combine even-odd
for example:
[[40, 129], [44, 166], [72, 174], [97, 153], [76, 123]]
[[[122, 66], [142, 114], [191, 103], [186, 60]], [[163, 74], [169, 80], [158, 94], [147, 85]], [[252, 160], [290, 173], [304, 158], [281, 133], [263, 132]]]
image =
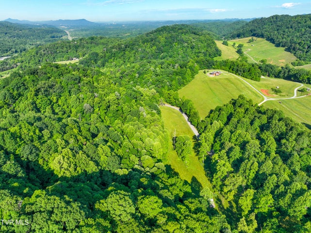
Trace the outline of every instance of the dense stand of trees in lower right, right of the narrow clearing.
[[237, 232], [311, 231], [311, 134], [240, 96], [199, 124], [213, 188], [235, 203]]

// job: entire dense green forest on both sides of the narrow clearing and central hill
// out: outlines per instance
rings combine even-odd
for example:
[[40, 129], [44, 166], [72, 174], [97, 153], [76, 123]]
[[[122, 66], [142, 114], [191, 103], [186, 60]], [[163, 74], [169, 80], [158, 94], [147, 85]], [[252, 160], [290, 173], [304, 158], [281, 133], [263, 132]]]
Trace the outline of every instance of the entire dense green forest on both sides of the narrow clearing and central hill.
[[[213, 61], [219, 55], [213, 34], [172, 25], [58, 41], [3, 61], [19, 66], [0, 79], [0, 216], [29, 224], [0, 231], [310, 232], [310, 132], [243, 96], [200, 121], [178, 96], [205, 67], [259, 80], [265, 64]], [[74, 57], [79, 64], [53, 63]], [[192, 143], [165, 130], [163, 102], [197, 126], [194, 150], [213, 189], [167, 165], [171, 145], [183, 159]], [[213, 208], [212, 198], [229, 206]]]

